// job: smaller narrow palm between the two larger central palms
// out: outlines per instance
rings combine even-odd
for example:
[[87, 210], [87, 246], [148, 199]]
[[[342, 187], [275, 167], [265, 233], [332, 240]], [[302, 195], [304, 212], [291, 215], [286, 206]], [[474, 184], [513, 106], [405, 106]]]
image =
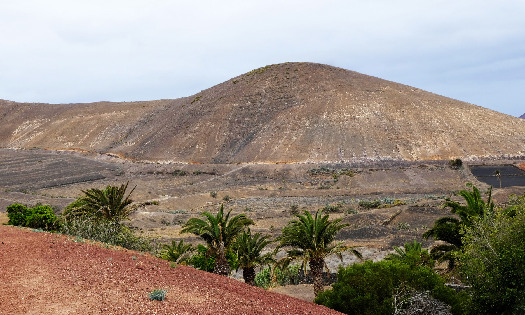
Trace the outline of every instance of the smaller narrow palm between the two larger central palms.
[[234, 244], [234, 250], [237, 252], [237, 260], [239, 261], [239, 268], [243, 269], [244, 282], [250, 286], [255, 286], [255, 267], [259, 266], [261, 270], [264, 265], [273, 264], [276, 262], [273, 253], [266, 253], [261, 255], [264, 247], [272, 241], [267, 240], [271, 235], [260, 237], [260, 233], [255, 233], [251, 236], [250, 228], [248, 231], [240, 234]]

